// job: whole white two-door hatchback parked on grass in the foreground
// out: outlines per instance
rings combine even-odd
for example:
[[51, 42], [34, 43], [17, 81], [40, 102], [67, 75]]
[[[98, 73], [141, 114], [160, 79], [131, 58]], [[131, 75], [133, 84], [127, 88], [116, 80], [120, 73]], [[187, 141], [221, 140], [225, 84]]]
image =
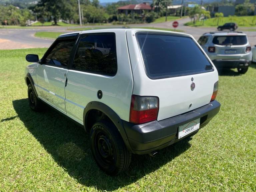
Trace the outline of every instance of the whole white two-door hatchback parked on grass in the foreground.
[[[102, 42], [105, 54], [95, 48]], [[93, 47], [93, 48], [92, 48]], [[218, 113], [218, 72], [191, 35], [102, 29], [59, 36], [41, 60], [27, 55], [29, 105], [46, 103], [90, 133], [99, 167], [126, 170], [198, 132]]]

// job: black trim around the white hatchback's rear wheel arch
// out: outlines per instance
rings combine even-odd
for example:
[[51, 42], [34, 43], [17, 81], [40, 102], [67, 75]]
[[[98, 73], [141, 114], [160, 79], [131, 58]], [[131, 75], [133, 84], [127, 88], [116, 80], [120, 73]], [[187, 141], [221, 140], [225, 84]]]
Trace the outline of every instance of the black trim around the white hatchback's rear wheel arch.
[[107, 106], [104, 103], [98, 102], [98, 101], [92, 101], [89, 102], [85, 109], [84, 109], [84, 114], [83, 114], [83, 119], [84, 119], [84, 129], [88, 132], [89, 127], [87, 127], [86, 121], [89, 115], [89, 112], [93, 109], [99, 110], [103, 112], [105, 115], [108, 116], [108, 118], [114, 123], [114, 125], [117, 127], [121, 137], [123, 138], [123, 141], [129, 151], [133, 151], [131, 149], [128, 137], [126, 135], [124, 126], [123, 126], [123, 121], [121, 118], [116, 114], [116, 112], [111, 109], [109, 106]]

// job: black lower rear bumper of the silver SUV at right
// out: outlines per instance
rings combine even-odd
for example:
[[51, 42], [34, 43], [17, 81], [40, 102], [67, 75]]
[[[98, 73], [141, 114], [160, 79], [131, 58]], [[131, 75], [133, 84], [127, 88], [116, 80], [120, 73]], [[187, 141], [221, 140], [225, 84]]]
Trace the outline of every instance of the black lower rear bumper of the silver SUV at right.
[[248, 67], [252, 61], [246, 59], [215, 59], [212, 61], [217, 68], [246, 68]]

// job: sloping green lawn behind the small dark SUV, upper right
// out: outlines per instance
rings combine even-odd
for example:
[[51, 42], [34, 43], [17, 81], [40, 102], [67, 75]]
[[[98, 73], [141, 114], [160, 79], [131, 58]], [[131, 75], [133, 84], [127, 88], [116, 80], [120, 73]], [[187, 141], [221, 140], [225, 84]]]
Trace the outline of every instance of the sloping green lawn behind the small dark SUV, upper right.
[[[206, 27], [217, 27], [218, 18], [211, 18], [203, 21], [197, 21], [195, 24], [193, 22], [188, 22], [185, 25], [188, 26], [206, 26]], [[256, 16], [230, 16], [230, 17], [223, 17], [219, 20], [219, 25], [223, 25], [225, 23], [235, 22], [239, 26], [242, 27], [252, 27], [256, 26]]]

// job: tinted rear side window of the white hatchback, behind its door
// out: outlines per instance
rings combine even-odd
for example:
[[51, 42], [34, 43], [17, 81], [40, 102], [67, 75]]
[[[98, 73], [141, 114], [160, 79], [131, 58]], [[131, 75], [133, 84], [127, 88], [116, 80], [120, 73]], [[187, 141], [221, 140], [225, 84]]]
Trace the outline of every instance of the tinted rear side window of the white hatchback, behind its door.
[[[100, 44], [99, 44], [99, 43]], [[97, 47], [89, 47], [94, 45]], [[97, 49], [101, 47], [101, 49]], [[102, 48], [104, 45], [104, 48]], [[114, 76], [117, 72], [116, 40], [114, 33], [83, 34], [72, 68], [75, 70]]]

